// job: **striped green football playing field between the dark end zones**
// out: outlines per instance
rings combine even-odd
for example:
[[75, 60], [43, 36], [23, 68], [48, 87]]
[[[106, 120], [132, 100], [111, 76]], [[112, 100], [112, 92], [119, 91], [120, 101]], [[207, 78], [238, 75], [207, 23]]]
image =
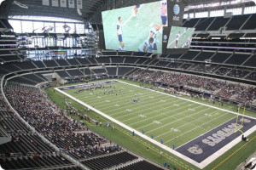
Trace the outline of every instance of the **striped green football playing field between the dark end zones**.
[[[160, 142], [163, 139], [164, 144], [169, 147], [175, 144], [177, 148], [236, 117], [229, 112], [129, 83], [114, 82], [104, 86], [110, 85], [112, 88], [96, 89], [93, 92], [74, 93], [82, 88], [64, 92], [139, 132], [144, 129], [148, 137], [153, 134], [155, 140]], [[113, 90], [113, 94], [108, 94], [110, 90]], [[132, 103], [132, 99], [140, 101]]]

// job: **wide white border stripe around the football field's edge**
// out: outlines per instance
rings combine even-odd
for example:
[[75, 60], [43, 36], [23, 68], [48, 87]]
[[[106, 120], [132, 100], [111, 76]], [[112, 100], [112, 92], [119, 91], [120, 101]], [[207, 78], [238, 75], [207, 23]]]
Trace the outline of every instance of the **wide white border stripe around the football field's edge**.
[[[117, 82], [122, 82], [122, 81], [117, 80]], [[129, 84], [129, 85], [135, 86], [135, 87], [137, 87], [137, 88], [143, 88], [143, 87], [139, 87], [139, 86], [134, 85], [134, 84], [127, 83], [127, 82], [122, 82], [122, 83]], [[145, 88], [145, 89], [148, 89], [148, 88]], [[123, 122], [119, 122], [119, 121], [117, 121], [116, 119], [113, 119], [113, 117], [104, 114], [102, 111], [96, 110], [94, 107], [91, 107], [90, 105], [85, 104], [84, 102], [80, 101], [79, 99], [74, 98], [72, 95], [67, 94], [67, 93], [64, 92], [64, 91], [61, 91], [59, 88], [55, 88], [55, 90], [57, 90], [57, 91], [60, 92], [61, 94], [66, 95], [66, 96], [69, 97], [70, 99], [73, 99], [73, 100], [77, 101], [79, 104], [84, 105], [84, 106], [90, 108], [90, 110], [96, 111], [98, 114], [100, 114], [101, 116], [106, 117], [106, 118], [107, 118], [108, 120], [110, 120], [111, 122], [114, 122], [114, 123], [119, 124], [119, 126], [124, 127], [124, 128], [126, 128], [127, 130], [136, 133], [138, 136], [142, 137], [143, 139], [148, 140], [148, 141], [151, 142], [152, 144], [158, 145], [160, 148], [162, 148], [162, 149], [164, 149], [164, 150], [166, 150], [166, 151], [169, 151], [169, 152], [172, 153], [173, 155], [178, 156], [178, 157], [182, 158], [184, 161], [188, 161], [189, 163], [191, 163], [191, 164], [193, 164], [193, 165], [195, 165], [196, 167], [199, 167], [199, 168], [201, 168], [201, 169], [204, 168], [204, 167], [207, 167], [207, 165], [210, 164], [210, 163], [211, 163], [212, 161], [214, 161], [215, 159], [217, 159], [218, 156], [223, 155], [224, 152], [226, 152], [227, 150], [230, 150], [231, 147], [233, 147], [234, 145], [238, 144], [238, 143], [241, 141], [241, 136], [239, 136], [239, 137], [237, 137], [235, 140], [233, 140], [232, 142], [230, 142], [229, 144], [226, 144], [222, 149], [220, 149], [220, 150], [218, 150], [217, 152], [215, 152], [214, 154], [212, 154], [212, 156], [209, 156], [206, 160], [202, 161], [201, 163], [198, 163], [198, 162], [196, 162], [196, 161], [190, 159], [190, 158], [187, 157], [187, 156], [183, 156], [183, 154], [177, 152], [176, 150], [172, 150], [170, 147], [166, 146], [165, 144], [160, 144], [160, 142], [158, 142], [158, 141], [156, 141], [156, 140], [154, 140], [154, 139], [151, 139], [151, 138], [149, 138], [147, 135], [144, 135], [143, 133], [140, 133], [140, 132], [138, 132], [137, 130], [135, 130], [135, 129], [133, 129], [133, 128], [127, 126], [127, 125], [125, 125]], [[148, 90], [154, 91], [154, 90], [151, 90], [151, 89], [148, 89]], [[158, 92], [158, 91], [154, 91], [154, 92], [160, 93], [160, 94], [165, 94], [165, 93]], [[176, 97], [176, 96], [173, 96], [173, 95], [171, 95], [171, 94], [165, 94], [165, 95], [169, 95], [169, 96], [172, 96], [172, 97]], [[177, 99], [183, 99], [183, 98], [181, 98], [181, 97], [176, 97], [176, 98], [177, 98]], [[232, 114], [234, 114], [234, 115], [237, 115], [236, 112], [234, 112], [234, 111], [227, 111], [227, 110], [224, 110], [224, 109], [221, 109], [221, 108], [212, 106], [212, 105], [202, 104], [202, 103], [199, 103], [199, 102], [190, 100], [190, 99], [183, 99], [183, 100], [190, 101], [190, 102], [196, 103], [196, 104], [198, 104], [198, 105], [205, 105], [205, 106], [208, 106], [208, 107], [217, 109], [217, 110], [219, 110], [219, 111], [226, 111], [226, 112], [230, 112], [230, 113], [232, 113]], [[241, 115], [241, 114], [240, 114], [240, 115]], [[252, 117], [252, 116], [247, 116], [247, 117], [250, 117], [250, 118], [252, 118], [252, 119], [255, 119], [255, 118]], [[249, 134], [253, 133], [255, 130], [256, 130], [256, 126], [254, 126], [254, 127], [252, 127], [251, 129], [249, 129], [249, 130], [245, 133], [245, 135], [249, 135]]]

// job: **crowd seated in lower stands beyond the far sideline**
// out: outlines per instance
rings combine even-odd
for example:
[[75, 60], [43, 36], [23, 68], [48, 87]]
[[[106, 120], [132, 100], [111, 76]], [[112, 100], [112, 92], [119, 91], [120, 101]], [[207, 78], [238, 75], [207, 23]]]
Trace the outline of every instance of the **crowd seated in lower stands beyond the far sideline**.
[[161, 82], [172, 87], [199, 88], [219, 97], [229, 98], [233, 95], [236, 100], [252, 103], [256, 99], [256, 88], [247, 87], [239, 83], [231, 83], [211, 78], [187, 75], [166, 71], [138, 70], [131, 77], [148, 82]]

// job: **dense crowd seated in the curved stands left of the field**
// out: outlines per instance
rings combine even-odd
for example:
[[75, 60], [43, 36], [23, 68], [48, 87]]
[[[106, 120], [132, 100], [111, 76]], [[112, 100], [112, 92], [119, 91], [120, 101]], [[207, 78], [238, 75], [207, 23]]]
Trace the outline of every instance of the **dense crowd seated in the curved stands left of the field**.
[[[20, 116], [59, 150], [72, 153], [71, 156], [75, 158], [86, 158], [114, 151], [111, 148], [102, 148], [101, 144], [106, 143], [106, 139], [88, 131], [83, 122], [67, 116], [66, 111], [61, 111], [38, 88], [11, 82], [6, 94], [10, 104]], [[115, 149], [119, 150], [119, 147]]]

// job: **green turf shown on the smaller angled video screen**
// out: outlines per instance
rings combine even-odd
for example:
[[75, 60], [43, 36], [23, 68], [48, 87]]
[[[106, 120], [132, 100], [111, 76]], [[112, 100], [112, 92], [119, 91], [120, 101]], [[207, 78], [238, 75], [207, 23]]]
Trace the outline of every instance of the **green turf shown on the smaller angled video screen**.
[[[178, 27], [178, 26], [172, 26], [172, 30], [170, 32], [170, 37], [168, 40], [167, 48], [175, 48], [176, 43], [176, 37], [178, 34], [178, 31], [180, 31], [180, 37], [177, 42], [177, 48], [183, 48], [183, 44], [188, 41], [189, 37], [192, 37], [194, 33], [194, 28], [188, 28], [187, 31], [185, 31], [185, 27]], [[189, 44], [190, 47], [190, 44]], [[188, 48], [189, 48], [188, 47]]]

